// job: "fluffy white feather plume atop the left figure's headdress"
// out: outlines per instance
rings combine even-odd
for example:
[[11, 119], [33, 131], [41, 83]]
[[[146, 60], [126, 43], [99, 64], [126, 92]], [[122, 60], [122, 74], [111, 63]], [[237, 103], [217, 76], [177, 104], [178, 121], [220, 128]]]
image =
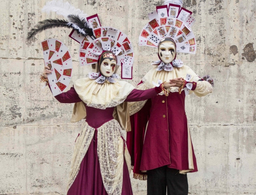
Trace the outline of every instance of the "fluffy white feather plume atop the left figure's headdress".
[[68, 2], [64, 2], [63, 0], [52, 0], [46, 3], [43, 7], [42, 12], [50, 13], [56, 12], [58, 15], [64, 16], [66, 19], [68, 15], [73, 14], [79, 16], [80, 19], [86, 19], [88, 15], [83, 13], [80, 9], [76, 9]]

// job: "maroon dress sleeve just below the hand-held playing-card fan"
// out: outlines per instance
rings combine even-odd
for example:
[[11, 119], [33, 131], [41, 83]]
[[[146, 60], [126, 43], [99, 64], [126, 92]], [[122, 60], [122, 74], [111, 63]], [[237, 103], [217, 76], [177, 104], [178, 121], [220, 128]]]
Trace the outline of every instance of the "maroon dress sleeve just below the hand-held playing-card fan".
[[[49, 86], [49, 88], [50, 88], [50, 86]], [[70, 90], [68, 90], [67, 92], [58, 94], [54, 97], [60, 103], [66, 103], [66, 104], [77, 103], [77, 102], [82, 101], [74, 87], [71, 87]]]

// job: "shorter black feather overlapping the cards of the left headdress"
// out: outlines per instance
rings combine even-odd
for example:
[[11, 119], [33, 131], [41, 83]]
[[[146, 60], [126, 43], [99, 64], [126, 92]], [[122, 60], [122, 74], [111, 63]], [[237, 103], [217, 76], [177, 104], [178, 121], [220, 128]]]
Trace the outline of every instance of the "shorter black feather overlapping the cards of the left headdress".
[[93, 29], [89, 27], [86, 19], [80, 19], [79, 16], [75, 16], [75, 15], [68, 15], [67, 18], [70, 23], [80, 28], [82, 31], [85, 32], [86, 35], [89, 35], [90, 37], [94, 37]]

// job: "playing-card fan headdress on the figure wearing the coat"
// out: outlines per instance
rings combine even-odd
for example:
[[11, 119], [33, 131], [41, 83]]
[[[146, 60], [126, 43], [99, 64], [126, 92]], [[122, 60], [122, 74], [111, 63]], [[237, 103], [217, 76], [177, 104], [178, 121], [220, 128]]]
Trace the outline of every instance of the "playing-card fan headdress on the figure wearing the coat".
[[163, 38], [172, 38], [176, 52], [195, 54], [195, 35], [191, 29], [195, 18], [182, 7], [182, 0], [165, 0], [165, 5], [156, 8], [148, 14], [150, 22], [141, 31], [139, 45], [157, 48]]

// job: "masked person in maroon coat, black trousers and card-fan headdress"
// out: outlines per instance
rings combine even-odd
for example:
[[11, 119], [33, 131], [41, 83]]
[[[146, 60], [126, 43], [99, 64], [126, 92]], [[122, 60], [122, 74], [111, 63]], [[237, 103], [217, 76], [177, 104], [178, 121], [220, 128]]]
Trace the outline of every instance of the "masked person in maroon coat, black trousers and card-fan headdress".
[[137, 89], [145, 90], [164, 81], [172, 87], [147, 101], [128, 104], [131, 132], [127, 146], [135, 179], [147, 179], [147, 195], [187, 195], [186, 173], [197, 164], [185, 112], [185, 97], [212, 92], [212, 85], [176, 59], [176, 52], [195, 53], [192, 12], [180, 0], [168, 0], [149, 14], [150, 22], [139, 37], [140, 46], [158, 49], [159, 61], [143, 77]]

